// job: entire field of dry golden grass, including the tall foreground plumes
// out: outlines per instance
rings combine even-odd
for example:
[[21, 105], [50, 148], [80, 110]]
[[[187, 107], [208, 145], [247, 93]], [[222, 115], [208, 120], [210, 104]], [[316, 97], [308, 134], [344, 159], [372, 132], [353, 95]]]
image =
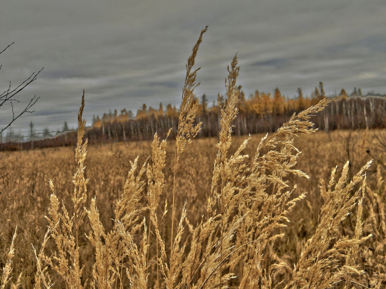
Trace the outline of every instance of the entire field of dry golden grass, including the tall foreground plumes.
[[317, 132], [322, 99], [274, 133], [233, 136], [235, 56], [218, 137], [195, 140], [205, 30], [175, 139], [88, 147], [82, 97], [75, 158], [1, 152], [2, 288], [385, 287], [384, 131]]

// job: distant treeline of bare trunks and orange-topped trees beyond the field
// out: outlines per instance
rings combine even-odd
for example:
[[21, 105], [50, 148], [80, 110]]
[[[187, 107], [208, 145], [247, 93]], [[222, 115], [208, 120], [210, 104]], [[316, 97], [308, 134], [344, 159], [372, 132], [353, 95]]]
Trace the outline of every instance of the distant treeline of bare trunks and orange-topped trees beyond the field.
[[[234, 134], [256, 134], [273, 132], [284, 122], [288, 121], [293, 113], [298, 113], [325, 97], [323, 83], [320, 82], [311, 97], [303, 97], [298, 88], [296, 98], [282, 96], [278, 88], [274, 94], [256, 91], [245, 97], [240, 89], [239, 114], [234, 121]], [[315, 115], [312, 121], [319, 129], [326, 132], [334, 129], [364, 129], [384, 128], [386, 125], [386, 96], [367, 94], [362, 95], [361, 89], [354, 89], [348, 95], [342, 89], [340, 97], [331, 102], [324, 111]], [[218, 97], [218, 104], [208, 106], [205, 94], [200, 97], [200, 106], [196, 118], [197, 123], [202, 121], [202, 129], [198, 137], [217, 136], [220, 129], [220, 106], [226, 104], [227, 99]], [[173, 138], [178, 126], [179, 111], [168, 104], [165, 108], [162, 103], [158, 109], [147, 108], [146, 104], [138, 109], [134, 115], [123, 109], [120, 114], [105, 113], [102, 118], [94, 117], [93, 125], [86, 131], [90, 144], [112, 143], [119, 141], [141, 141], [152, 139], [154, 133], [165, 138], [172, 128]], [[54, 146], [76, 145], [76, 132], [68, 131], [58, 134], [54, 138], [31, 140], [24, 143], [8, 142], [0, 145], [0, 150], [24, 150]]]

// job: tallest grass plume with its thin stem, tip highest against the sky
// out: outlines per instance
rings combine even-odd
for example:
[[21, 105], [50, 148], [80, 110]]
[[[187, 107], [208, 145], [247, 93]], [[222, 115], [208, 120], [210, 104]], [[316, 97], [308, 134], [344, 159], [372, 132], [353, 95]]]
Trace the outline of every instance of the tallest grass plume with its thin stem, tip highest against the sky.
[[178, 117], [178, 129], [176, 136], [176, 151], [174, 155], [174, 169], [173, 169], [173, 202], [172, 202], [172, 216], [171, 216], [171, 237], [170, 237], [170, 251], [173, 250], [173, 228], [174, 228], [174, 202], [175, 202], [175, 183], [176, 183], [176, 171], [181, 158], [186, 153], [188, 145], [192, 139], [200, 132], [202, 122], [195, 124], [196, 115], [198, 112], [198, 99], [195, 100], [194, 89], [200, 85], [197, 82], [197, 72], [201, 67], [192, 71], [195, 65], [195, 59], [198, 52], [198, 47], [202, 42], [202, 35], [208, 30], [206, 26], [201, 30], [200, 37], [196, 44], [193, 46], [192, 54], [188, 58], [186, 63], [186, 77], [185, 84], [182, 89], [182, 101], [181, 108]]

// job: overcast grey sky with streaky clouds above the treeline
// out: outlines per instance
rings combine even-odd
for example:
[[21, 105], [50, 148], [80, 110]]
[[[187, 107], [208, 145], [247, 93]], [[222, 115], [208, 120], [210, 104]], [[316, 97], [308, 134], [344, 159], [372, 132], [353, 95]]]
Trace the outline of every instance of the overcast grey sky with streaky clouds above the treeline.
[[[186, 59], [209, 25], [196, 66], [197, 96], [209, 103], [223, 94], [226, 67], [238, 52], [238, 84], [293, 97], [310, 95], [319, 81], [328, 94], [354, 87], [386, 92], [384, 0], [2, 0], [0, 89], [14, 87], [44, 67], [19, 94], [15, 113], [34, 95], [35, 112], [15, 121], [26, 133], [76, 126], [85, 89], [84, 116], [146, 103], [179, 106]], [[0, 107], [0, 125], [12, 118]]]

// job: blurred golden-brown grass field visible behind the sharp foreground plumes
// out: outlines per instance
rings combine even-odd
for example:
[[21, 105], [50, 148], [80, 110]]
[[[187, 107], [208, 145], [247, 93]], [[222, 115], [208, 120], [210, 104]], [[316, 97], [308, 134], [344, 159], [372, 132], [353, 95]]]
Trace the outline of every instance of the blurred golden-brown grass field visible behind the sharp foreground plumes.
[[[301, 192], [307, 192], [307, 195], [305, 200], [299, 202], [289, 213], [291, 223], [283, 230], [286, 236], [283, 240], [276, 241], [273, 246], [285, 251], [285, 257], [291, 261], [290, 264], [298, 260], [302, 246], [313, 235], [317, 227], [320, 207], [323, 204], [318, 187], [320, 178], [328, 180], [332, 168], [337, 165], [338, 170], [341, 171], [348, 159], [352, 162], [349, 174], [353, 175], [357, 172], [361, 165], [370, 160], [366, 149], [374, 141], [372, 133], [374, 132], [332, 131], [326, 134], [318, 131], [295, 139], [295, 146], [302, 152], [295, 168], [303, 170], [310, 176], [310, 179], [291, 176], [288, 178], [289, 186], [297, 185], [295, 196], [300, 195]], [[263, 135], [253, 135], [249, 146], [243, 153], [252, 155], [262, 137]], [[239, 144], [243, 140], [243, 137], [234, 137], [233, 142]], [[217, 141], [216, 138], [194, 140], [185, 158], [181, 160], [180, 170], [176, 177], [177, 208], [182, 208], [185, 199], [188, 201], [186, 210], [193, 226], [206, 212], [207, 197], [212, 183], [213, 160], [217, 153], [217, 148], [215, 148]], [[165, 198], [169, 200], [171, 198], [174, 144], [175, 141], [169, 141], [166, 149], [165, 187], [161, 203]], [[127, 172], [131, 167], [130, 161], [139, 156], [139, 163], [144, 163], [150, 155], [150, 141], [113, 143], [88, 148], [85, 162], [85, 175], [90, 179], [87, 206], [90, 205], [90, 198], [96, 196], [101, 221], [106, 230], [112, 229], [111, 218], [114, 216], [115, 201], [124, 191]], [[47, 229], [44, 215], [47, 215], [49, 196], [52, 193], [48, 181], [52, 180], [55, 184], [58, 198], [63, 199], [66, 204], [71, 204], [74, 190], [72, 180], [76, 171], [74, 148], [16, 151], [10, 154], [2, 153], [2, 156], [5, 156], [3, 171], [9, 175], [4, 179], [5, 183], [1, 186], [2, 194], [0, 195], [0, 212], [3, 220], [0, 225], [2, 232], [1, 261], [2, 264], [5, 264], [7, 260], [10, 241], [17, 226], [18, 235], [15, 239], [12, 282], [16, 282], [20, 275], [20, 287], [29, 288], [34, 284], [36, 274], [36, 259], [31, 244], [39, 248]], [[376, 170], [376, 165], [372, 165], [367, 172], [367, 182], [376, 183]], [[166, 217], [170, 218], [168, 215]], [[169, 220], [164, 222], [160, 228], [166, 238], [170, 230], [169, 222]], [[348, 226], [347, 222], [345, 226]], [[83, 228], [85, 232], [90, 230], [87, 222]], [[371, 233], [371, 231], [366, 233]], [[345, 234], [344, 227], [339, 230], [339, 234]], [[92, 278], [93, 248], [90, 244], [86, 244], [85, 238], [81, 239], [81, 242], [84, 243], [80, 246], [83, 249], [81, 250], [81, 262], [82, 265], [85, 265], [83, 280], [86, 281], [87, 278]], [[54, 250], [54, 244], [49, 244], [46, 248], [48, 254], [53, 254]], [[151, 263], [149, 265], [154, 267]], [[366, 271], [366, 268], [363, 269]], [[61, 284], [60, 279], [55, 281], [55, 287]]]

